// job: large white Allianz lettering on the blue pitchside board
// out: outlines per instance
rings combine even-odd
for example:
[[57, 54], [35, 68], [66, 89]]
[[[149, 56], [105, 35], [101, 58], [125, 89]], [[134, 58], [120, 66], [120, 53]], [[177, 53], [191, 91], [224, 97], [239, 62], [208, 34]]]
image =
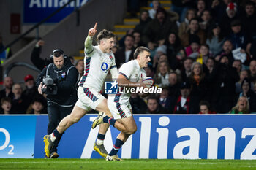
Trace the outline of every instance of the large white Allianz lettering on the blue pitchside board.
[[[90, 117], [90, 121], [93, 122], [95, 117]], [[140, 133], [140, 139], [132, 138], [132, 135], [129, 136], [127, 142], [123, 145], [121, 149], [121, 158], [132, 158], [132, 152], [134, 154], [135, 150], [132, 151], [132, 141], [139, 140], [139, 151], [136, 153], [137, 158], [149, 158], [150, 144], [152, 143], [152, 139], [157, 139], [157, 158], [158, 159], [167, 159], [167, 152], [173, 152], [173, 158], [176, 159], [200, 159], [199, 153], [202, 152], [202, 148], [206, 148], [207, 150], [207, 159], [217, 159], [218, 155], [218, 142], [219, 138], [225, 138], [225, 146], [224, 146], [224, 158], [225, 159], [234, 159], [235, 158], [235, 149], [236, 154], [239, 150], [240, 159], [256, 159], [256, 155], [254, 151], [256, 149], [256, 128], [243, 128], [241, 132], [234, 131], [233, 128], [206, 128], [206, 131], [198, 131], [197, 128], [181, 128], [176, 131], [176, 137], [179, 139], [184, 136], [189, 136], [189, 138], [184, 139], [183, 141], [177, 142], [174, 144], [174, 147], [170, 146], [170, 128], [166, 128], [165, 126], [170, 124], [170, 119], [167, 116], [159, 117], [158, 124], [161, 128], [152, 129], [151, 128], [151, 117], [139, 117], [139, 121], [141, 123], [140, 129], [136, 133]], [[139, 127], [138, 127], [139, 128]], [[158, 135], [154, 134], [153, 131], [157, 132]], [[83, 148], [83, 152], [80, 158], [91, 158], [94, 146], [94, 141], [97, 139], [98, 127], [95, 129], [91, 129], [89, 132], [89, 136], [86, 139], [86, 144]], [[201, 133], [201, 134], [200, 134]], [[200, 142], [200, 135], [203, 138], [206, 138], [208, 134], [208, 143]], [[241, 134], [241, 139], [238, 139], [237, 134]], [[154, 134], [151, 136], [151, 134]], [[238, 148], [238, 142], [244, 141], [246, 136], [251, 137], [251, 140], [248, 141], [247, 144], [243, 144], [245, 147]], [[236, 139], [237, 137], [237, 139]], [[175, 140], [174, 138], [170, 138]], [[110, 152], [113, 147], [113, 141], [116, 139], [112, 138], [111, 131], [107, 131], [105, 137], [105, 148]], [[172, 141], [173, 142], [173, 141]], [[235, 147], [235, 144], [237, 146]], [[207, 147], [206, 147], [207, 146]], [[189, 152], [184, 153], [184, 149], [189, 147]], [[208, 148], [208, 149], [207, 149]], [[244, 150], [243, 150], [244, 149]]]

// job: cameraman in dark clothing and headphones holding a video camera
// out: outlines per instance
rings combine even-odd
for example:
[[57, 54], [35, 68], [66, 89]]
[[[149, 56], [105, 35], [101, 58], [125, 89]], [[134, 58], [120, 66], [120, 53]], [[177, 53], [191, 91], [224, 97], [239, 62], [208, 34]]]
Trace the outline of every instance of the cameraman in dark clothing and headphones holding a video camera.
[[[47, 95], [48, 104], [48, 134], [51, 134], [59, 122], [70, 114], [77, 101], [76, 85], [79, 74], [63, 50], [56, 49], [50, 55], [53, 63], [46, 66], [37, 77], [37, 87], [40, 94]], [[54, 142], [50, 150], [50, 158], [58, 158], [59, 140]]]

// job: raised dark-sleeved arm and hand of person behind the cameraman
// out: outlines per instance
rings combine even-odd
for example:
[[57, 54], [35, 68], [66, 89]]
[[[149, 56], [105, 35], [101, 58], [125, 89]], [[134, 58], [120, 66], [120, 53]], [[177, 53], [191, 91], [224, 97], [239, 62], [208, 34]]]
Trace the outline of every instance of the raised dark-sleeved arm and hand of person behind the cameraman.
[[49, 63], [52, 62], [50, 60], [40, 58], [42, 46], [44, 45], [45, 45], [45, 41], [40, 39], [35, 45], [34, 49], [32, 50], [31, 58], [30, 58], [31, 62], [34, 63], [34, 66], [36, 66], [40, 70], [44, 69], [45, 66], [47, 66]]

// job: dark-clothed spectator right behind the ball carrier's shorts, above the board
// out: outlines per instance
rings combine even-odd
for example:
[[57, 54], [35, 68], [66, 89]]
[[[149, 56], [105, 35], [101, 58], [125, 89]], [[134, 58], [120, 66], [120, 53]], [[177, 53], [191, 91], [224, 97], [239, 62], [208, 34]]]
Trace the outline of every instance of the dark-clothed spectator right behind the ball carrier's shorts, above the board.
[[129, 102], [132, 105], [132, 113], [133, 114], [144, 114], [146, 113], [147, 104], [140, 98], [138, 93], [132, 93], [131, 98], [129, 98]]

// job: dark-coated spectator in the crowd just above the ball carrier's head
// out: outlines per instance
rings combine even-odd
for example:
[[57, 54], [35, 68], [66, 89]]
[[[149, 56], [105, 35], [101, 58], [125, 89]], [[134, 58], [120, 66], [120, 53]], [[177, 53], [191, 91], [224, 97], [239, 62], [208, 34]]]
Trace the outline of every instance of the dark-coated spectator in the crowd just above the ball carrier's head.
[[165, 9], [159, 7], [157, 9], [156, 18], [151, 20], [146, 26], [143, 42], [148, 45], [148, 48], [154, 50], [155, 47], [163, 45], [166, 37], [170, 32], [177, 32], [178, 28], [175, 23], [171, 23], [167, 18]]

